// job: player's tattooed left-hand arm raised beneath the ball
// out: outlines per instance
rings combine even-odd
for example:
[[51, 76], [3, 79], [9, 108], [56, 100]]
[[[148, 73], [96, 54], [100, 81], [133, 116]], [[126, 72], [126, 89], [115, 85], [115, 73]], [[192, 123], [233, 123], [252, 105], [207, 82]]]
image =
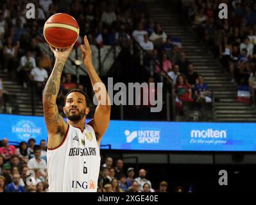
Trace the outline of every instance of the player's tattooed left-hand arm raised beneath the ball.
[[51, 51], [55, 54], [55, 65], [47, 80], [43, 94], [44, 120], [48, 133], [47, 147], [50, 149], [58, 147], [64, 140], [65, 133], [67, 132], [67, 123], [58, 113], [56, 99], [60, 90], [62, 71], [73, 46], [74, 44], [64, 52], [56, 51], [50, 46]]

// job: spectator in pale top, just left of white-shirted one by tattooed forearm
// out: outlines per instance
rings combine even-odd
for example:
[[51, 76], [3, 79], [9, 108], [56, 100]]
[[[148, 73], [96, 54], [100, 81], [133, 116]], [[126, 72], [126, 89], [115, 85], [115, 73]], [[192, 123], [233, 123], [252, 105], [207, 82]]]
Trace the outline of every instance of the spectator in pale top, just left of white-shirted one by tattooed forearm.
[[19, 75], [21, 76], [22, 85], [24, 88], [28, 87], [29, 74], [33, 68], [37, 67], [35, 58], [31, 56], [31, 51], [27, 51], [26, 56], [21, 57], [21, 64], [19, 69]]

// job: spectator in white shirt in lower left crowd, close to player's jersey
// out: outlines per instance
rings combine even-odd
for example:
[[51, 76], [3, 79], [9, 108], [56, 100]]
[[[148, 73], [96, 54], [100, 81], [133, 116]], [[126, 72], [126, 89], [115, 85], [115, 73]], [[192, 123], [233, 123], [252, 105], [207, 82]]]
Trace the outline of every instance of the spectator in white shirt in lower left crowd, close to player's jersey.
[[42, 172], [42, 176], [46, 176], [47, 174], [47, 166], [46, 166], [46, 160], [43, 160], [41, 158], [41, 150], [38, 147], [34, 151], [35, 158], [31, 158], [30, 161], [28, 161], [28, 168], [34, 169], [34, 168], [40, 168]]

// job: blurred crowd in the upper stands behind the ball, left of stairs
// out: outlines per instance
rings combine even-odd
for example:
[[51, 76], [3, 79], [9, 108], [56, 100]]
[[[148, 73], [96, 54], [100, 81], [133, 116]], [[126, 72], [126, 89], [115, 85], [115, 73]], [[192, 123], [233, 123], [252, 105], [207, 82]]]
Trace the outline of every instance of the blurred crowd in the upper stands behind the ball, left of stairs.
[[[27, 19], [27, 3], [35, 4], [35, 19]], [[55, 13], [69, 13], [80, 25], [78, 46], [83, 35], [91, 44], [120, 45], [123, 76], [130, 67], [127, 61], [135, 60], [134, 54], [143, 51], [143, 76], [151, 82], [169, 81], [175, 87], [176, 111], [183, 114], [184, 101], [210, 102], [210, 92], [203, 76], [194, 72], [194, 66], [177, 37], [167, 34], [159, 22], [155, 22], [141, 0], [21, 0], [0, 2], [0, 69], [16, 79], [24, 88], [35, 86], [36, 99], [42, 97], [42, 90], [53, 67], [49, 54], [42, 51], [38, 43], [45, 42], [44, 22]], [[135, 46], [134, 46], [135, 45]], [[133, 47], [133, 58], [131, 47]], [[143, 81], [143, 80], [142, 80]], [[62, 102], [67, 91], [77, 85], [70, 74], [62, 76], [58, 101]], [[85, 89], [85, 88], [84, 88]], [[86, 91], [86, 90], [85, 90]], [[1, 94], [0, 94], [1, 99]], [[59, 103], [60, 104], [60, 103]], [[1, 101], [0, 101], [1, 106]], [[61, 106], [60, 106], [61, 107]]]

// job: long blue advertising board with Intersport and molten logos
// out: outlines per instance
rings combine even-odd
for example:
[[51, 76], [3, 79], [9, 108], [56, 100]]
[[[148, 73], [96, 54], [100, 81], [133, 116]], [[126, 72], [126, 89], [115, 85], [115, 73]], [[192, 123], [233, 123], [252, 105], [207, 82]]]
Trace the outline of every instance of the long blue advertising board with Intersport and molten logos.
[[[47, 139], [43, 117], [0, 115], [0, 140]], [[102, 145], [138, 151], [256, 151], [255, 123], [111, 120]]]

